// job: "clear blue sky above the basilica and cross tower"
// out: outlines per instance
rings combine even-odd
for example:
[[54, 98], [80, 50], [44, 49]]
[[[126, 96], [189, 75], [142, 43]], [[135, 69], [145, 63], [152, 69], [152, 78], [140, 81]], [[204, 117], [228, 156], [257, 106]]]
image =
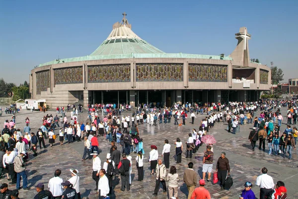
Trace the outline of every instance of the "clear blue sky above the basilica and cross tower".
[[0, 0], [0, 78], [18, 85], [36, 65], [90, 55], [124, 11], [166, 53], [229, 55], [246, 26], [250, 58], [298, 78], [298, 0]]

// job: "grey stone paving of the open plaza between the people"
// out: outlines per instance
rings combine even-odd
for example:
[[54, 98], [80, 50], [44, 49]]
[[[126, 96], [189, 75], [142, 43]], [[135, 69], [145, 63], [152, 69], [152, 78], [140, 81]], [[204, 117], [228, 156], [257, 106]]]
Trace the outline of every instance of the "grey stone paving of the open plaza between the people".
[[[282, 113], [285, 118], [286, 108], [282, 108]], [[128, 112], [131, 115], [132, 112]], [[258, 112], [259, 114], [260, 112]], [[56, 111], [47, 111], [46, 114], [56, 115]], [[127, 112], [124, 112], [127, 114]], [[45, 114], [43, 112], [30, 112], [22, 110], [21, 113], [17, 114], [16, 126], [23, 130], [25, 126], [25, 118], [29, 117], [30, 127], [32, 132], [36, 133], [37, 129], [41, 126], [42, 117]], [[70, 120], [70, 114], [67, 113], [68, 119]], [[206, 145], [202, 145], [197, 153], [193, 155], [192, 158], [185, 158], [185, 153], [182, 155], [182, 163], [176, 164], [174, 159], [174, 142], [176, 137], [179, 137], [183, 143], [187, 141], [188, 133], [191, 130], [199, 129], [199, 124], [203, 117], [206, 115], [196, 115], [195, 124], [189, 123], [191, 120], [186, 120], [185, 126], [175, 126], [174, 120], [170, 124], [160, 124], [156, 127], [150, 126], [149, 124], [144, 124], [139, 126], [140, 137], [144, 141], [145, 158], [148, 158], [150, 145], [154, 144], [158, 148], [159, 157], [161, 158], [161, 152], [163, 147], [163, 140], [168, 139], [171, 144], [170, 152], [170, 166], [174, 165], [177, 168], [177, 173], [179, 174], [180, 182], [178, 183], [178, 197], [179, 199], [187, 198], [187, 188], [183, 183], [183, 172], [187, 168], [187, 164], [191, 161], [194, 163], [194, 170], [198, 172], [198, 180], [202, 178], [202, 159], [203, 152], [206, 149]], [[79, 122], [85, 122], [87, 118], [87, 112], [79, 114]], [[0, 117], [0, 124], [4, 121], [11, 119], [11, 115], [5, 115], [3, 113]], [[101, 116], [102, 119], [102, 116]], [[284, 121], [285, 122], [285, 121]], [[268, 155], [266, 145], [266, 151], [259, 150], [256, 147], [255, 151], [251, 150], [250, 142], [248, 140], [248, 134], [251, 131], [252, 125], [240, 125], [240, 133], [231, 134], [226, 131], [227, 123], [221, 122], [215, 125], [215, 128], [209, 131], [217, 139], [217, 143], [214, 145], [214, 164], [213, 172], [216, 168], [217, 159], [220, 157], [221, 152], [226, 153], [226, 157], [230, 162], [231, 177], [233, 178], [233, 186], [230, 190], [221, 191], [219, 184], [213, 185], [211, 182], [206, 181], [206, 188], [209, 190], [211, 197], [213, 199], [238, 199], [241, 191], [244, 188], [244, 183], [250, 181], [253, 184], [252, 190], [254, 191], [257, 198], [259, 198], [259, 187], [256, 187], [255, 180], [258, 175], [261, 174], [261, 168], [267, 167], [268, 174], [273, 177], [274, 182], [278, 180], [284, 181], [286, 188], [288, 189], [288, 199], [298, 199], [297, 192], [297, 177], [298, 177], [298, 155], [297, 150], [293, 149], [293, 157], [291, 160], [288, 158], [283, 158], [282, 156]], [[2, 128], [2, 125], [1, 125]], [[282, 124], [281, 132], [286, 128], [286, 124]], [[55, 131], [58, 134], [58, 131]], [[106, 160], [106, 154], [110, 150], [110, 142], [105, 140], [104, 137], [99, 137], [99, 148], [100, 159], [103, 162]], [[74, 142], [71, 144], [65, 143], [60, 146], [58, 138], [53, 147], [49, 147], [50, 144], [46, 140], [47, 148], [39, 149], [38, 156], [34, 157], [31, 151], [29, 153], [29, 161], [27, 162], [26, 171], [28, 176], [28, 187], [31, 190], [24, 191], [20, 190], [21, 199], [32, 199], [36, 193], [35, 186], [38, 183], [44, 183], [45, 187], [48, 186], [50, 178], [54, 177], [54, 171], [56, 169], [61, 169], [61, 178], [64, 181], [71, 178], [70, 169], [78, 169], [80, 177], [80, 193], [81, 196], [88, 196], [89, 199], [97, 199], [97, 192], [95, 189], [95, 182], [92, 180], [92, 161], [86, 160], [81, 161], [84, 144], [83, 142]], [[267, 142], [266, 142], [267, 144]], [[118, 148], [121, 149], [120, 144], [117, 144]], [[258, 146], [258, 141], [257, 141]], [[184, 144], [184, 149], [186, 145]], [[155, 176], [149, 175], [149, 162], [144, 162], [144, 181], [138, 182], [138, 172], [136, 169], [135, 153], [130, 154], [133, 157], [133, 172], [132, 172], [132, 186], [130, 191], [122, 192], [120, 190], [121, 182], [120, 176], [116, 177], [113, 181], [113, 194], [111, 199], [167, 199], [167, 193], [162, 193], [160, 188], [157, 197], [152, 197], [152, 193], [155, 187]], [[287, 156], [288, 157], [288, 156]], [[213, 175], [213, 174], [212, 174]], [[8, 183], [7, 179], [1, 179], [0, 184]], [[22, 183], [21, 183], [22, 185]], [[8, 186], [8, 189], [15, 189], [15, 185]]]

